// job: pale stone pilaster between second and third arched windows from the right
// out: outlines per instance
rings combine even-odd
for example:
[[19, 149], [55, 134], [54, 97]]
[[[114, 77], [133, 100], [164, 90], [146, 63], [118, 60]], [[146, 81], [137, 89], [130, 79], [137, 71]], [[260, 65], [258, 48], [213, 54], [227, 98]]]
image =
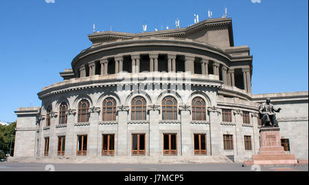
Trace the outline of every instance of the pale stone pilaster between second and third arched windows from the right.
[[159, 112], [160, 106], [148, 106], [149, 110], [149, 155], [158, 157], [160, 155], [160, 132], [159, 132]]

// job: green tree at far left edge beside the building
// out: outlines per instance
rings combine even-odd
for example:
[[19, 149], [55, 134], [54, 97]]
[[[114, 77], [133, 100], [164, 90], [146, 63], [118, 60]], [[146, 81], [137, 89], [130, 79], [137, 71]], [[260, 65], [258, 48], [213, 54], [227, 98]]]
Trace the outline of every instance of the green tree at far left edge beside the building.
[[12, 140], [11, 156], [13, 156], [14, 153], [15, 128], [16, 121], [9, 125], [0, 125], [0, 150], [5, 154], [10, 153]]

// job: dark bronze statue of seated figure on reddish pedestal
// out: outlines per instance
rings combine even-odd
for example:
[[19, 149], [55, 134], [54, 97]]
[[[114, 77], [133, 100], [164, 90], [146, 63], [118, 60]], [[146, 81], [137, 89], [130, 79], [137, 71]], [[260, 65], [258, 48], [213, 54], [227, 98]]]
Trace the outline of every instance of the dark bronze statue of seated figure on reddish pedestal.
[[270, 98], [266, 98], [266, 103], [262, 103], [259, 110], [262, 127], [279, 127], [275, 112], [279, 112], [280, 110], [281, 108], [274, 108]]

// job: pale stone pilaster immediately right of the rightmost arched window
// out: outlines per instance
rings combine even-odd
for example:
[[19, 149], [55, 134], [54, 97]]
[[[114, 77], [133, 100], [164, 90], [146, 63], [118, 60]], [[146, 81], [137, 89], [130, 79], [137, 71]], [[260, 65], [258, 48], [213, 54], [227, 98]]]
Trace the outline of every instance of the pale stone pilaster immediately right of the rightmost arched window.
[[223, 141], [222, 135], [220, 134], [220, 109], [214, 107], [207, 108], [209, 112], [209, 123], [210, 123], [210, 149], [211, 156], [220, 156], [223, 152]]

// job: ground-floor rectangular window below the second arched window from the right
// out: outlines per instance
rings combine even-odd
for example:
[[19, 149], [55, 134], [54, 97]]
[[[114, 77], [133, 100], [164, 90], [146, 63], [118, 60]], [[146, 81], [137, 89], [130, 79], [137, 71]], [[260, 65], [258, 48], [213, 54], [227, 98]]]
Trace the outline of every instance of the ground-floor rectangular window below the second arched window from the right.
[[177, 155], [177, 134], [163, 134], [163, 155]]

